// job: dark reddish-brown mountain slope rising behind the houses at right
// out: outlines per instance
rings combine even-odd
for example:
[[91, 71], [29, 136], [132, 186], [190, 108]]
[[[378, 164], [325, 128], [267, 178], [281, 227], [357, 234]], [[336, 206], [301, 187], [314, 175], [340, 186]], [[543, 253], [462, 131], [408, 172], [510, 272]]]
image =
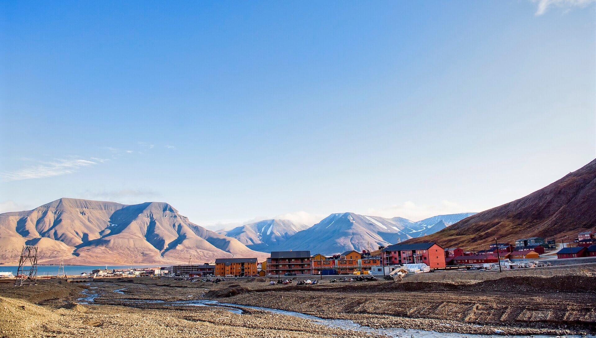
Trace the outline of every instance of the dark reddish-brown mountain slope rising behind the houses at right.
[[445, 247], [481, 249], [524, 237], [576, 238], [596, 228], [596, 160], [519, 200], [462, 219], [439, 232], [404, 243], [436, 241]]

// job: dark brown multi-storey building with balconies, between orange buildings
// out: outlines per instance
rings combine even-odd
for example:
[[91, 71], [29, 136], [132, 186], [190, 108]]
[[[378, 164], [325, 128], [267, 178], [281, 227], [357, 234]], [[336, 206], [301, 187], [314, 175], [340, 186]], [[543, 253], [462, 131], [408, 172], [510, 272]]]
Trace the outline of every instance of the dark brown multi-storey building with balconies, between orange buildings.
[[272, 251], [267, 259], [267, 275], [312, 275], [309, 250]]

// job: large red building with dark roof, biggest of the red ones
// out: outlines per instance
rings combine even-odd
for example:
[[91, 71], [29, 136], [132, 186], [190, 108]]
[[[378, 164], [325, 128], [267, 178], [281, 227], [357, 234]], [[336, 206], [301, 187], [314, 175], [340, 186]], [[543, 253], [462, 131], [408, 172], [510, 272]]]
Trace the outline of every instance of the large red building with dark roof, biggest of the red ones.
[[445, 249], [437, 243], [393, 244], [381, 250], [384, 265], [425, 263], [431, 269], [445, 268]]

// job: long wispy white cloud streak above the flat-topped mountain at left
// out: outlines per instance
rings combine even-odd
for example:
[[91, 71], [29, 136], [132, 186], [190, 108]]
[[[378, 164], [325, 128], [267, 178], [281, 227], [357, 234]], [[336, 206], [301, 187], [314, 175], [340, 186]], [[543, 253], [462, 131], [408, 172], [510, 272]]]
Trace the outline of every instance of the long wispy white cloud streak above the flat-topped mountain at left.
[[39, 162], [38, 165], [33, 165], [28, 168], [5, 171], [0, 175], [4, 181], [20, 181], [22, 179], [60, 176], [96, 164], [97, 162], [81, 159], [57, 159], [53, 162]]

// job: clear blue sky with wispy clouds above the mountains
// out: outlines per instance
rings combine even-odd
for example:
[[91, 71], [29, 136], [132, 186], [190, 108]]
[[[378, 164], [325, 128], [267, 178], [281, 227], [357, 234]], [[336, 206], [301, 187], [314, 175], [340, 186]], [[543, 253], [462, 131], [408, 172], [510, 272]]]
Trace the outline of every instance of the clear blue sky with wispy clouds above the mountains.
[[0, 211], [481, 211], [596, 157], [590, 0], [7, 2]]

